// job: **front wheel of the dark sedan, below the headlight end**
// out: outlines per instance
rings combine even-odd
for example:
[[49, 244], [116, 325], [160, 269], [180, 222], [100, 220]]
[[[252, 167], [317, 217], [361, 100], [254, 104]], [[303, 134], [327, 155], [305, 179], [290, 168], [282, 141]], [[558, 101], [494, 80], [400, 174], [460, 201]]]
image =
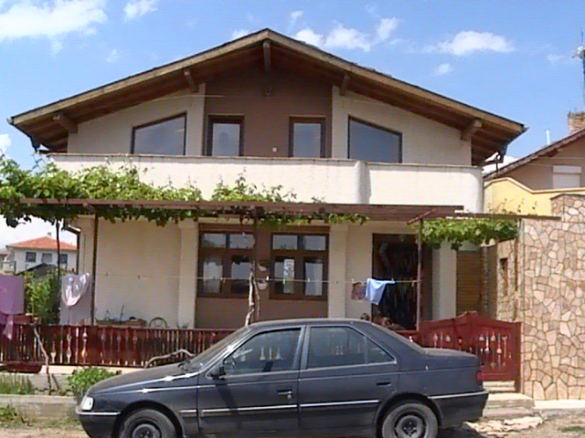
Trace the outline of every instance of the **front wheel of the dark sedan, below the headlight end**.
[[175, 424], [162, 412], [142, 409], [122, 422], [120, 438], [176, 438]]

